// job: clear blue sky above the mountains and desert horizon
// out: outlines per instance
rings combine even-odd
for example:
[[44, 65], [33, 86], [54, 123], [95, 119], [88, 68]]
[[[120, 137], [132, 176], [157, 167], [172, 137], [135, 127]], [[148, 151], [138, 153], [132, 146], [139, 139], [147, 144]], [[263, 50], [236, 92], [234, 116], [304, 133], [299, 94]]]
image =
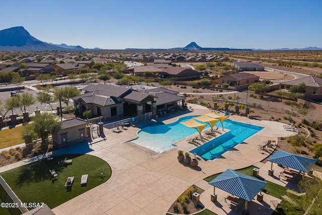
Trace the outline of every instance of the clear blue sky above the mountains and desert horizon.
[[0, 1], [0, 30], [23, 26], [84, 48], [322, 47], [321, 0]]

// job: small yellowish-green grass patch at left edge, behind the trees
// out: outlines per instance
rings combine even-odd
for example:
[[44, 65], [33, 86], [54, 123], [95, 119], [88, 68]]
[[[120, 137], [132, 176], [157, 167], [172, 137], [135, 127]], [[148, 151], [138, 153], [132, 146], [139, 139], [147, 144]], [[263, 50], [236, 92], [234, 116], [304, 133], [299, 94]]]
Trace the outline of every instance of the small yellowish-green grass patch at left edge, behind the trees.
[[0, 149], [23, 144], [25, 140], [22, 138], [21, 130], [23, 126], [10, 129], [0, 130]]

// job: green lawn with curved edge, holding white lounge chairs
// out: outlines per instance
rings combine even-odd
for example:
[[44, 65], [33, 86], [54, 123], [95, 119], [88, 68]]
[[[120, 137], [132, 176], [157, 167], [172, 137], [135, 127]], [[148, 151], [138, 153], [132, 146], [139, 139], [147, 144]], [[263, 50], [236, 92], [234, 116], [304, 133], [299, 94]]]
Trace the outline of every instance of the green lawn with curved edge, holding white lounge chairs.
[[[58, 161], [72, 159], [71, 165], [58, 165]], [[57, 180], [50, 179], [49, 170], [58, 173]], [[101, 178], [104, 173], [104, 178]], [[88, 174], [87, 186], [81, 186], [81, 177]], [[39, 161], [2, 173], [16, 195], [23, 202], [44, 202], [54, 208], [104, 182], [112, 174], [110, 165], [91, 155], [63, 155], [51, 161]], [[66, 178], [74, 176], [71, 188], [64, 187]]]

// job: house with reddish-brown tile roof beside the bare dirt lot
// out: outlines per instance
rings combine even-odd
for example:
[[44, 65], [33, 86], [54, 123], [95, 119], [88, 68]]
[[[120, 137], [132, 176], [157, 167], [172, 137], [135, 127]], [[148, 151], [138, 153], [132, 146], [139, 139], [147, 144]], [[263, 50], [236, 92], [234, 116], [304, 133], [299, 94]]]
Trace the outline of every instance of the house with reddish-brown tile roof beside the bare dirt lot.
[[229, 86], [250, 85], [260, 81], [260, 77], [249, 73], [228, 74], [218, 79], [218, 84]]

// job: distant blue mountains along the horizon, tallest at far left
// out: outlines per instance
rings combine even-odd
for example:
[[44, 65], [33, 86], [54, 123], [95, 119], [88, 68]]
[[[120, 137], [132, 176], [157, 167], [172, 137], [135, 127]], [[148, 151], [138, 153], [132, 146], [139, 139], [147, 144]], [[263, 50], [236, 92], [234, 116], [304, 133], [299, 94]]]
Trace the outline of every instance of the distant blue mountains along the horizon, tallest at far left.
[[[8, 28], [0, 31], [0, 50], [3, 51], [45, 51], [45, 50], [63, 50], [63, 51], [72, 51], [72, 50], [103, 50], [100, 48], [88, 49], [83, 48], [79, 45], [66, 45], [62, 44], [53, 44], [48, 42], [42, 42], [35, 37], [31, 36], [29, 32], [22, 26]], [[125, 50], [171, 50], [171, 51], [246, 51], [246, 50], [264, 50], [264, 49], [237, 49], [237, 48], [203, 48], [197, 45], [195, 42], [191, 42], [189, 45], [183, 48], [170, 48], [170, 49], [138, 49], [138, 48], [126, 48]], [[307, 47], [307, 48], [281, 48], [281, 49], [269, 49], [269, 50], [322, 50], [322, 48], [317, 47]]]

